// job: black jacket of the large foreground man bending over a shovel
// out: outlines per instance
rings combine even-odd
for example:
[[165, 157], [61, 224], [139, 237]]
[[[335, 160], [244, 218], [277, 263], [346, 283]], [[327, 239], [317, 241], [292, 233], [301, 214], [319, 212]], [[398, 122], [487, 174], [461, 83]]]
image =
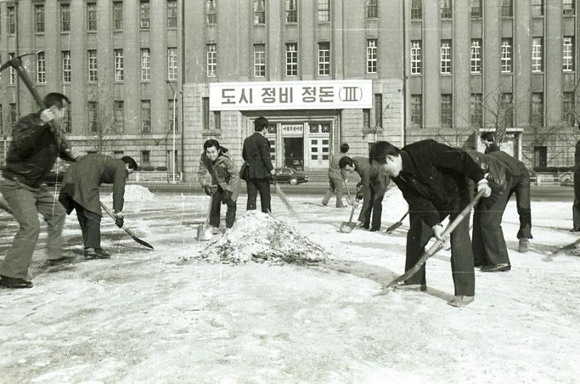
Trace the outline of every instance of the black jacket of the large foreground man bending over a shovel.
[[402, 191], [409, 211], [419, 215], [426, 225], [441, 220], [459, 201], [460, 191], [468, 188], [467, 178], [478, 183], [484, 173], [461, 149], [422, 140], [401, 149], [402, 171], [392, 178]]

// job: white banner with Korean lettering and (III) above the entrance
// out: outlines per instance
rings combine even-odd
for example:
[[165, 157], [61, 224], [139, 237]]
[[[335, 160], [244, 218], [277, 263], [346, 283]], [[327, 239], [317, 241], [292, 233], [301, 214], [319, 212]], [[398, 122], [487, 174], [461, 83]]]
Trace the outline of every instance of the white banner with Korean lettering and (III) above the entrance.
[[210, 110], [372, 108], [372, 80], [212, 82]]

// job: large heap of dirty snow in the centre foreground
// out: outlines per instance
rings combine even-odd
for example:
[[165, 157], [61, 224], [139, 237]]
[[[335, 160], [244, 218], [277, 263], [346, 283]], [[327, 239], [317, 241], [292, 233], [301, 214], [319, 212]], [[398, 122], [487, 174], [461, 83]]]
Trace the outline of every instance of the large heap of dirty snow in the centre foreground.
[[328, 255], [291, 225], [249, 210], [225, 235], [210, 242], [200, 257], [211, 262], [318, 262]]

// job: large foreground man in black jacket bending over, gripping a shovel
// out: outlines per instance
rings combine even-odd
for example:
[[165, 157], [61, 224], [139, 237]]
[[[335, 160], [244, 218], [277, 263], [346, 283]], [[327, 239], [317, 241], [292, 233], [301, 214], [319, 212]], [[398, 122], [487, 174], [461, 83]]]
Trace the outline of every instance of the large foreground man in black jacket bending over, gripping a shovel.
[[[371, 149], [371, 159], [391, 176], [409, 203], [405, 270], [417, 263], [431, 236], [445, 240], [441, 220], [447, 215], [453, 220], [471, 200], [467, 178], [477, 184], [483, 196], [491, 194], [483, 171], [465, 151], [434, 140], [409, 144], [400, 150], [389, 142], [376, 142]], [[464, 218], [451, 233], [451, 271], [455, 298], [449, 304], [466, 306], [473, 302], [475, 295], [468, 218]], [[425, 266], [402, 287], [405, 285], [407, 288], [426, 289]]]

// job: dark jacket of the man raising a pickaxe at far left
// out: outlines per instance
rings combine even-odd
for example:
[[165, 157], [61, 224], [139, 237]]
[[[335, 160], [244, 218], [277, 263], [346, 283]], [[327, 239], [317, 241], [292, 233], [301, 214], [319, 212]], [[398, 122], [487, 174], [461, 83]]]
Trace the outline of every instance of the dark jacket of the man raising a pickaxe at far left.
[[66, 161], [74, 161], [68, 149], [64, 141], [57, 146], [53, 133], [48, 124], [43, 123], [39, 112], [27, 114], [12, 129], [12, 142], [6, 154], [2, 176], [38, 188], [58, 156]]

